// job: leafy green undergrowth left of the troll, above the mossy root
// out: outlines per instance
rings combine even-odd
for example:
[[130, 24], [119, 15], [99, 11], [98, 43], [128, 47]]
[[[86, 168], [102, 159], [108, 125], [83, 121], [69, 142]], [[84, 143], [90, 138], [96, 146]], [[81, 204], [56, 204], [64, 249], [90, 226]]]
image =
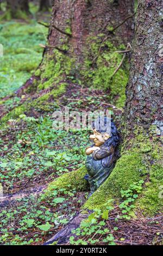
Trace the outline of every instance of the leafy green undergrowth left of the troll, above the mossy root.
[[[0, 180], [4, 192], [14, 191], [15, 187], [20, 190], [28, 179], [28, 185], [33, 186], [35, 177], [44, 184], [83, 166], [86, 131], [54, 130], [51, 117], [21, 114], [1, 132]], [[10, 138], [5, 137], [8, 133]]]

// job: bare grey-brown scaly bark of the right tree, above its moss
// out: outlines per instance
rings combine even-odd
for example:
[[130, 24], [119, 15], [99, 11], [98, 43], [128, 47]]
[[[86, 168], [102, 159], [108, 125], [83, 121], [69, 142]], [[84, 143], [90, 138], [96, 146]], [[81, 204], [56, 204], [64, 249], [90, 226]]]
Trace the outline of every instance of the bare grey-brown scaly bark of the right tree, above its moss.
[[139, 0], [138, 3], [124, 111], [129, 138], [137, 127], [148, 132], [152, 125], [156, 126], [158, 136], [163, 135], [162, 1]]

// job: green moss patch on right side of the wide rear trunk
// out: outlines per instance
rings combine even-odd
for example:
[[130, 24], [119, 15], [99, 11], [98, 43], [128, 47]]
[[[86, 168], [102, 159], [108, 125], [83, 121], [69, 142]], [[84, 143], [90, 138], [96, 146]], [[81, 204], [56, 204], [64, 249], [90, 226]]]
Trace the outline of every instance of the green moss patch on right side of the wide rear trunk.
[[[85, 49], [85, 61], [80, 75], [88, 86], [93, 88], [110, 89], [109, 100], [116, 97], [116, 106], [123, 107], [126, 100], [125, 89], [128, 82], [128, 64], [124, 62], [113, 76], [114, 71], [122, 60], [122, 54], [116, 53], [117, 49], [124, 50], [124, 45], [115, 47], [109, 40], [101, 44], [104, 34], [90, 36]], [[99, 47], [101, 51], [99, 52]], [[89, 50], [87, 50], [89, 49]]]

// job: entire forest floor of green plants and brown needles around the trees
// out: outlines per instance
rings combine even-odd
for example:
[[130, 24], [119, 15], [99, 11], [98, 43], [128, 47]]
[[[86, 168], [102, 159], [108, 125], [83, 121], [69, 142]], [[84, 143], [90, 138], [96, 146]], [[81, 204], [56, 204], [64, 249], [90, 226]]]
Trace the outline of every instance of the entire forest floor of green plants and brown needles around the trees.
[[[48, 15], [44, 20], [47, 22]], [[0, 58], [0, 101], [15, 92], [29, 79], [42, 58], [48, 29], [38, 25], [36, 17], [27, 21], [1, 22], [0, 43], [4, 57]], [[122, 109], [108, 104], [106, 93], [78, 86], [67, 88], [67, 106], [76, 111], [111, 109], [116, 124]], [[16, 107], [21, 97], [9, 97], [3, 103], [5, 112]], [[104, 99], [106, 99], [104, 101]], [[58, 105], [64, 105], [61, 96]], [[103, 103], [102, 103], [103, 102]], [[0, 243], [4, 245], [42, 245], [60, 231], [78, 214], [89, 191], [56, 189], [51, 196], [42, 196], [49, 182], [58, 176], [77, 170], [85, 161], [85, 147], [90, 144], [86, 130], [54, 131], [52, 113], [55, 102], [49, 102], [51, 112], [11, 118], [1, 124], [0, 138], [0, 192], [3, 196], [27, 193], [26, 197], [0, 201]], [[2, 198], [1, 198], [2, 199]], [[91, 215], [76, 231], [78, 239], [71, 237], [68, 244], [96, 245], [159, 245], [162, 242], [162, 217], [145, 218], [139, 212], [136, 218], [120, 218], [121, 208]]]

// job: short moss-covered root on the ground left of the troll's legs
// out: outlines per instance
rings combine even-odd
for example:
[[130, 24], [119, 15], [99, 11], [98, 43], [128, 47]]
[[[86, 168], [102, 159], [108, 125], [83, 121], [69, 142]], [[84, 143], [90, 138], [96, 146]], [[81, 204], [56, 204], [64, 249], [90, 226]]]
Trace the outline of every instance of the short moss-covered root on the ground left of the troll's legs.
[[65, 173], [59, 178], [51, 182], [47, 187], [46, 195], [48, 196], [56, 188], [68, 188], [68, 190], [75, 189], [77, 191], [85, 191], [88, 187], [87, 181], [84, 179], [86, 174], [85, 166], [74, 170], [71, 173]]

